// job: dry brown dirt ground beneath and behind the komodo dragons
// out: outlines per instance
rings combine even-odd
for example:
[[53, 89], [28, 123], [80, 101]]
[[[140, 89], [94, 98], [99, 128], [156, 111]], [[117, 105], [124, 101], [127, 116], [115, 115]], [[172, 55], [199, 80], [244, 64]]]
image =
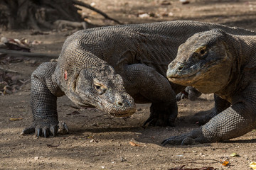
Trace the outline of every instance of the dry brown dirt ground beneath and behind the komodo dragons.
[[[193, 20], [223, 23], [256, 30], [256, 2], [228, 0], [169, 1], [161, 5], [159, 0], [88, 0], [122, 23], [146, 23], [154, 21]], [[113, 24], [95, 12], [83, 9], [92, 23]], [[145, 18], [139, 14], [149, 13]], [[57, 54], [70, 31], [49, 35], [31, 35], [31, 30], [2, 31], [1, 36], [27, 38], [41, 41], [32, 45], [32, 52]], [[4, 69], [18, 71], [23, 79], [41, 62], [50, 58], [31, 58], [37, 64], [23, 61], [1, 64]], [[30, 81], [15, 94], [0, 96], [0, 169], [172, 169], [183, 165], [186, 168], [211, 166], [215, 169], [250, 169], [256, 162], [256, 131], [232, 139], [193, 146], [163, 147], [161, 141], [173, 135], [188, 132], [198, 126], [191, 122], [198, 111], [213, 107], [213, 96], [204, 95], [197, 101], [178, 102], [176, 127], [147, 127], [142, 124], [149, 116], [149, 104], [137, 105], [137, 113], [131, 118], [112, 118], [94, 108], [77, 108], [67, 97], [58, 99], [59, 120], [70, 128], [68, 135], [58, 137], [21, 136], [33, 118], [29, 106]], [[10, 118], [22, 118], [11, 121]], [[132, 146], [130, 142], [138, 146]], [[230, 157], [233, 152], [239, 157]], [[228, 166], [221, 161], [228, 160]]]

